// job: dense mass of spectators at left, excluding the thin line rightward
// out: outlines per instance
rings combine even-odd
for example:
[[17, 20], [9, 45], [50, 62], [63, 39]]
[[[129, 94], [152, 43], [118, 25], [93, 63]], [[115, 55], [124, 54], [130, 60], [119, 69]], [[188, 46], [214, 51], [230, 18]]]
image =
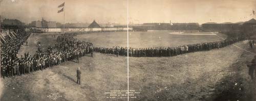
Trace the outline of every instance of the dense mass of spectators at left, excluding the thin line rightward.
[[28, 39], [30, 32], [17, 33], [16, 39], [7, 38], [1, 47], [3, 50], [1, 51], [1, 77], [3, 78], [46, 69], [74, 59], [79, 63], [80, 57], [93, 51], [92, 43], [76, 40], [73, 38], [74, 35], [68, 34], [57, 37], [55, 48], [50, 45], [45, 52], [42, 52], [41, 44], [38, 42], [36, 54], [31, 56], [25, 53], [18, 58], [18, 49]]

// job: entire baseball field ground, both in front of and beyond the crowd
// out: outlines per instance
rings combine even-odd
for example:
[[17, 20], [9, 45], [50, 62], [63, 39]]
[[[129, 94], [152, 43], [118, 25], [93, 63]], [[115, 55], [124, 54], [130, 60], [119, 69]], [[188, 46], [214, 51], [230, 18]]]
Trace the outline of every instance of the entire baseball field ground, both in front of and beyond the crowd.
[[[137, 48], [168, 47], [226, 37], [220, 33], [129, 32], [129, 44]], [[81, 34], [76, 38], [102, 47], [127, 44], [127, 32]], [[31, 35], [19, 56], [34, 54], [38, 41], [46, 48], [55, 40], [49, 34]], [[255, 50], [249, 48], [248, 41], [234, 45], [176, 57], [130, 57], [129, 89], [138, 92], [130, 100], [254, 100], [255, 82], [250, 80], [246, 61], [253, 58]], [[77, 67], [81, 67], [81, 85], [76, 84]], [[127, 90], [127, 57], [94, 53], [93, 58], [82, 57], [80, 63], [68, 61], [1, 79], [1, 83], [1, 100], [127, 100], [107, 98], [110, 95], [106, 93]], [[52, 93], [59, 97], [50, 98]]]

